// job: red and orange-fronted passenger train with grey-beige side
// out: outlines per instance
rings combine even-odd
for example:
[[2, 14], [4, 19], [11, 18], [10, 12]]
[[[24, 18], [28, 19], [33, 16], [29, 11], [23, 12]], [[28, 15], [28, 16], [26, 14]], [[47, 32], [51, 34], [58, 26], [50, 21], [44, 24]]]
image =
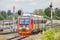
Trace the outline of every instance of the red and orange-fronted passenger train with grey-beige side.
[[47, 20], [40, 16], [19, 16], [17, 31], [20, 35], [29, 35], [45, 30]]

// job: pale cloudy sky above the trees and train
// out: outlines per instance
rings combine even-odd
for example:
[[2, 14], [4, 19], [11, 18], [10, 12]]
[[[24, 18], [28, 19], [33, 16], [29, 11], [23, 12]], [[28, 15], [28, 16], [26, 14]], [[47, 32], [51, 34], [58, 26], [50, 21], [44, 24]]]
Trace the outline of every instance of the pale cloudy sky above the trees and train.
[[[45, 9], [49, 7], [51, 0], [0, 0], [0, 10], [11, 10], [15, 6], [15, 11], [22, 9], [24, 12], [33, 12], [35, 9]], [[53, 8], [60, 8], [60, 0], [52, 0]]]

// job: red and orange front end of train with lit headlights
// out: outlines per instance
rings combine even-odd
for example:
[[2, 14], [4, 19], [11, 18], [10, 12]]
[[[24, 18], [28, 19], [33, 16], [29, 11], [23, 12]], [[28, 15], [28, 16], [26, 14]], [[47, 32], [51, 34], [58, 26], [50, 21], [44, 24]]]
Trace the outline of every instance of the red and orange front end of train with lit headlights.
[[29, 17], [18, 18], [18, 33], [20, 35], [29, 35], [33, 28], [32, 19]]

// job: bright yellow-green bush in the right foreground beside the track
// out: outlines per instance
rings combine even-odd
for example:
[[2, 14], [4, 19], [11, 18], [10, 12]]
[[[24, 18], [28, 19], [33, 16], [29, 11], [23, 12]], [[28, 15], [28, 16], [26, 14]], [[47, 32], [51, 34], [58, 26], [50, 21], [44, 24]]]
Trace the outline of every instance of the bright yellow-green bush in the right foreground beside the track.
[[55, 40], [55, 31], [54, 29], [48, 29], [45, 32], [43, 32], [42, 36], [41, 36], [41, 40]]

